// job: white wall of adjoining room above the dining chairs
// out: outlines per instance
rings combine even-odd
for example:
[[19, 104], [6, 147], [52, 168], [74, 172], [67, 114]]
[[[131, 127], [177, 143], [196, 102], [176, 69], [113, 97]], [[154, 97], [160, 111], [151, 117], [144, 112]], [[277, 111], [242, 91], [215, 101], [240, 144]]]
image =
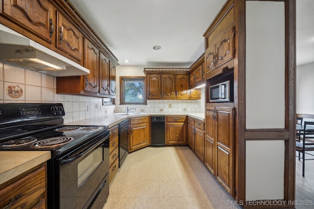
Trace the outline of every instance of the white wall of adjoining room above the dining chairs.
[[314, 63], [296, 67], [296, 113], [314, 115]]

